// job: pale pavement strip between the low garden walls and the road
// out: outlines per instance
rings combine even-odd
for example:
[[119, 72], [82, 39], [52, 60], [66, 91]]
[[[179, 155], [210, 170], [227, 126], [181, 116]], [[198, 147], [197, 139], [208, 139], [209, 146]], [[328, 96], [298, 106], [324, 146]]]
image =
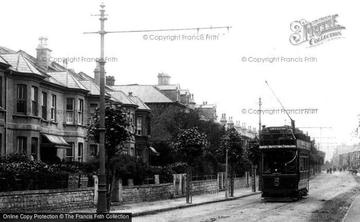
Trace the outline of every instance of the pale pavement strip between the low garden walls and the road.
[[[236, 200], [242, 197], [260, 194], [261, 191], [251, 192], [251, 188], [234, 190], [234, 197], [225, 198], [225, 191], [219, 191], [216, 194], [204, 194], [192, 196], [192, 204], [186, 203], [185, 197], [136, 202], [133, 204], [123, 204], [112, 206], [111, 213], [132, 213], [132, 217], [142, 216], [147, 214], [155, 214], [158, 212], [171, 211], [175, 209], [183, 209], [189, 207], [195, 207], [205, 204], [212, 204], [215, 202]], [[79, 209], [76, 212], [95, 212], [96, 208]]]

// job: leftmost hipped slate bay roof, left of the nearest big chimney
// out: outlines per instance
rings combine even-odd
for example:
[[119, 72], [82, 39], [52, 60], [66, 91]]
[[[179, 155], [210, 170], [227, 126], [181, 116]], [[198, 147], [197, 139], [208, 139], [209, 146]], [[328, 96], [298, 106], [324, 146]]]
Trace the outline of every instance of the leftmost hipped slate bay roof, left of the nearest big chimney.
[[44, 76], [21, 53], [1, 54], [1, 57], [11, 65], [10, 70]]

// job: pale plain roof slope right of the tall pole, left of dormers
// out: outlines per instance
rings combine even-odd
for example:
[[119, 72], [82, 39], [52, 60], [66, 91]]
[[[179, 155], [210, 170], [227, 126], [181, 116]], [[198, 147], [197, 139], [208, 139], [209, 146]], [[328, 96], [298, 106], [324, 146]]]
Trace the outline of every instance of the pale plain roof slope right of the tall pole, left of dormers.
[[132, 92], [134, 96], [139, 97], [145, 103], [173, 103], [170, 99], [153, 85], [116, 85], [111, 86], [114, 90], [123, 92]]

